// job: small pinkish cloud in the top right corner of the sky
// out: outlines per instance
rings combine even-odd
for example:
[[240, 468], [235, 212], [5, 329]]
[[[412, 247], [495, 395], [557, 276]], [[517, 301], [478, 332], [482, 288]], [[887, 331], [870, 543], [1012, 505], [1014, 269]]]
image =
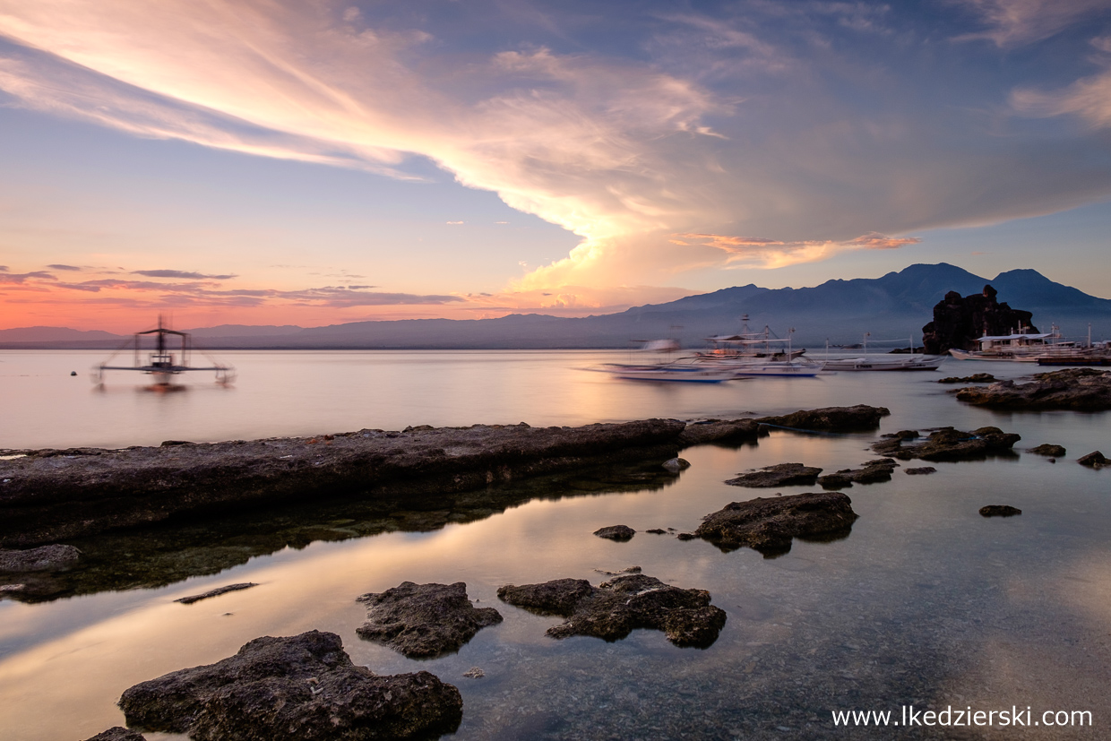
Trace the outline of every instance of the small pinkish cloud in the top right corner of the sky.
[[997, 47], [1015, 47], [1048, 39], [1088, 16], [1105, 11], [1105, 0], [954, 0], [988, 27], [958, 41], [987, 39]]

